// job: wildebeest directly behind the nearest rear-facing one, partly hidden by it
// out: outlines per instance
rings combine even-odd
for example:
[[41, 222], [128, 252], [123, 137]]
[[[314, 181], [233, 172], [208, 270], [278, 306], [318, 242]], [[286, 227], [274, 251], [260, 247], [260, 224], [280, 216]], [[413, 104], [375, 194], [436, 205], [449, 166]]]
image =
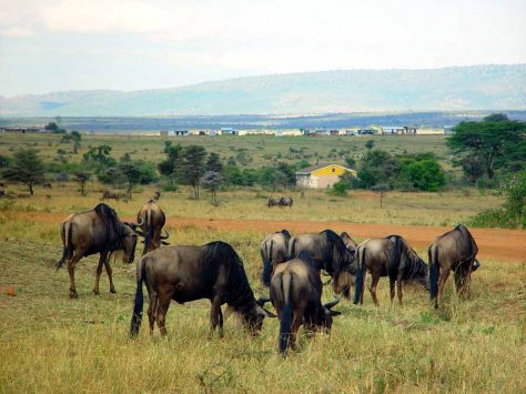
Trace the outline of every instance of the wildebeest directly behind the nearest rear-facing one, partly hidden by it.
[[300, 252], [306, 251], [320, 270], [331, 275], [333, 290], [350, 297], [351, 287], [340, 286], [340, 280], [348, 272], [356, 274], [355, 251], [348, 250], [343, 240], [332, 230], [324, 230], [318, 234], [302, 234], [289, 241], [289, 259], [297, 257]]

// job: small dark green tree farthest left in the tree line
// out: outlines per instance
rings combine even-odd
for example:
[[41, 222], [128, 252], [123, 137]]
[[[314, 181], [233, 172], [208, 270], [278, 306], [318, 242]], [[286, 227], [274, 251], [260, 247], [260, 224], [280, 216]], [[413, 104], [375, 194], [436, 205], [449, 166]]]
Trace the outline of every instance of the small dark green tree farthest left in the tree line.
[[33, 185], [43, 182], [43, 163], [36, 149], [21, 149], [14, 153], [13, 165], [4, 172], [4, 176], [13, 182], [26, 183], [31, 195]]

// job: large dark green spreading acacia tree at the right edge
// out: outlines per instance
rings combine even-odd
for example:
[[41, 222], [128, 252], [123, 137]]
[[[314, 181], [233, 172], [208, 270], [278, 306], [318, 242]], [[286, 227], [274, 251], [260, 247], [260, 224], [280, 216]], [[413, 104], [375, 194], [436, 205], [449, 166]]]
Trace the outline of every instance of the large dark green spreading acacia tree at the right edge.
[[[488, 179], [495, 171], [526, 153], [526, 122], [492, 114], [482, 122], [461, 122], [446, 144], [453, 153], [478, 161]], [[456, 161], [462, 163], [462, 159]]]

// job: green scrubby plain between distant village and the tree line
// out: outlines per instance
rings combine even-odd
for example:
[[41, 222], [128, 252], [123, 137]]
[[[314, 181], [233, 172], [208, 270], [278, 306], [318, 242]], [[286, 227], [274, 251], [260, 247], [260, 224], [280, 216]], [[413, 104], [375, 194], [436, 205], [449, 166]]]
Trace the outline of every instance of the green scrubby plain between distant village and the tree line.
[[[0, 137], [0, 154], [12, 155], [18, 148], [32, 147], [41, 151], [41, 158], [51, 162], [58, 156], [57, 150], [72, 150], [71, 144], [60, 143], [61, 135], [50, 134], [2, 134]], [[386, 150], [392, 154], [404, 152], [433, 152], [439, 159], [445, 169], [449, 168], [444, 135], [398, 135], [398, 137], [337, 137], [337, 138], [303, 138], [273, 135], [249, 135], [249, 137], [184, 137], [161, 138], [149, 135], [111, 135], [95, 134], [82, 135], [82, 148], [79, 154], [69, 154], [68, 160], [78, 162], [82, 160], [82, 153], [89, 147], [109, 144], [113, 148], [112, 156], [121, 158], [130, 153], [133, 159], [160, 162], [165, 159], [163, 153], [163, 141], [169, 140], [181, 145], [200, 144], [209, 152], [216, 152], [223, 159], [236, 158], [240, 152], [246, 153], [252, 161], [245, 165], [255, 168], [271, 165], [275, 160], [285, 162], [297, 162], [307, 160], [312, 165], [318, 161], [324, 163], [345, 163], [345, 158], [360, 159], [366, 151], [364, 144], [373, 140], [377, 149]], [[243, 153], [243, 154], [244, 154]], [[240, 164], [242, 165], [242, 164]]]

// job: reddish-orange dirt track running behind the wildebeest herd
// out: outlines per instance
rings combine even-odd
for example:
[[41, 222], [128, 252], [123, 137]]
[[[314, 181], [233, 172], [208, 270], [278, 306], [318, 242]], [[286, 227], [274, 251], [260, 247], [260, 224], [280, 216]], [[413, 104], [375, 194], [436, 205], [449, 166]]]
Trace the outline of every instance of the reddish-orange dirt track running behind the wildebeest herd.
[[[45, 212], [12, 212], [17, 219], [45, 223], [61, 223], [68, 215], [63, 213]], [[2, 214], [0, 213], [0, 216]], [[133, 220], [133, 218], [127, 218]], [[308, 222], [308, 221], [259, 221], [259, 220], [227, 220], [227, 219], [198, 219], [170, 218], [166, 226], [181, 228], [196, 226], [210, 230], [225, 231], [255, 231], [270, 233], [286, 229], [292, 234], [318, 232], [332, 229], [346, 231], [351, 236], [376, 238], [390, 234], [399, 234], [407, 239], [416, 249], [427, 249], [433, 240], [451, 228], [415, 226], [376, 223], [348, 222]], [[481, 260], [492, 259], [503, 262], [526, 262], [526, 231], [505, 229], [469, 229], [478, 245]]]

